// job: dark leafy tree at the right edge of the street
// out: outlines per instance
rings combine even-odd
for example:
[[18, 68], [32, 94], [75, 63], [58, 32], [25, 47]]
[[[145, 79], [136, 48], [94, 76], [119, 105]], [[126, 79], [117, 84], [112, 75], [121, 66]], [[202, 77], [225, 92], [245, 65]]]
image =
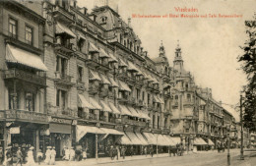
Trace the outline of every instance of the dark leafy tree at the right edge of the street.
[[241, 69], [247, 75], [247, 84], [244, 92], [245, 98], [244, 107], [244, 126], [250, 131], [256, 132], [256, 15], [251, 21], [245, 21], [246, 39], [243, 49], [244, 54], [238, 57], [238, 62], [241, 63]]

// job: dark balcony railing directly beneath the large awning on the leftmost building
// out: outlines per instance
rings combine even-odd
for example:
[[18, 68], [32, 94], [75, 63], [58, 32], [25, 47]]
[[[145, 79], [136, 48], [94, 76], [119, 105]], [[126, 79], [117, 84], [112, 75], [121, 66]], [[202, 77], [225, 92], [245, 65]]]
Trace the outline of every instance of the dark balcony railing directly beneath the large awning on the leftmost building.
[[8, 71], [5, 71], [4, 79], [5, 80], [18, 79], [24, 82], [46, 86], [45, 73], [39, 76], [39, 75], [35, 75], [19, 69], [10, 69]]

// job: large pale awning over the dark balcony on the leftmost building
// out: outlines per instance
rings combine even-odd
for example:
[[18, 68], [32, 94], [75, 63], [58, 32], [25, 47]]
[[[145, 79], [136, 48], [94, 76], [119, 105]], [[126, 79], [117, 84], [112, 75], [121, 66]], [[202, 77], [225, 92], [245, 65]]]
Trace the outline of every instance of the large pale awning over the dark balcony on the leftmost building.
[[6, 45], [6, 61], [29, 66], [39, 71], [48, 71], [38, 55], [10, 44]]

